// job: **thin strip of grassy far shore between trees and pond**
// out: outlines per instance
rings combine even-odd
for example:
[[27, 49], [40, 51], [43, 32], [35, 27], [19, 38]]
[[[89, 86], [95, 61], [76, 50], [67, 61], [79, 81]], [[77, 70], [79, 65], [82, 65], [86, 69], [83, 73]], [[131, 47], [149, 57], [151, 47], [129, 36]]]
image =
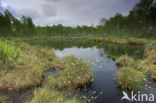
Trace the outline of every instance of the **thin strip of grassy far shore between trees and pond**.
[[[6, 39], [6, 38], [5, 38]], [[9, 40], [12, 38], [9, 38]], [[81, 37], [64, 37], [64, 36], [34, 36], [17, 38], [22, 41], [35, 41], [35, 40], [89, 40], [95, 42], [108, 42], [113, 44], [129, 44], [129, 45], [142, 45], [142, 44], [155, 44], [156, 38], [142, 38], [134, 35], [107, 35], [107, 36], [81, 36]], [[16, 40], [16, 38], [14, 39]]]

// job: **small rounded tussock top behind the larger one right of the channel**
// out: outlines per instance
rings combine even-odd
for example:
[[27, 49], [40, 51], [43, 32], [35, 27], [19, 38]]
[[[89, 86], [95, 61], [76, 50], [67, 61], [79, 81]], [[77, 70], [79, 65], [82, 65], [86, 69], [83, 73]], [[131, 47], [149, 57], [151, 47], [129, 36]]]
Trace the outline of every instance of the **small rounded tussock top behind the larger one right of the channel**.
[[132, 57], [124, 55], [119, 57], [115, 62], [118, 66], [133, 66], [135, 60]]

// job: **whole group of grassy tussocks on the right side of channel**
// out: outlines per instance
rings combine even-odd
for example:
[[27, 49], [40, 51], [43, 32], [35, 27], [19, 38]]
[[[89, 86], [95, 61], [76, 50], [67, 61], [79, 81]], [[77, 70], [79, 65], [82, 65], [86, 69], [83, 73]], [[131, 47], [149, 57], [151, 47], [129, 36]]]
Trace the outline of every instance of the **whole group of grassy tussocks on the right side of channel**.
[[143, 82], [156, 81], [155, 55], [156, 46], [152, 45], [145, 49], [145, 58], [142, 60], [134, 60], [128, 56], [119, 57], [116, 60], [119, 65], [118, 86], [123, 90], [138, 90]]

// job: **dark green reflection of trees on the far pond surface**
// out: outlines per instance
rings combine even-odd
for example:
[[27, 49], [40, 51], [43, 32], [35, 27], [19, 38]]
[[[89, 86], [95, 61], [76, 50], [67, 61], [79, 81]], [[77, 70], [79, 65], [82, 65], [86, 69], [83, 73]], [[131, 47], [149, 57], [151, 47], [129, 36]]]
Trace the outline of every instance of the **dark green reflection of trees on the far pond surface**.
[[[74, 41], [74, 40], [53, 40], [53, 41], [35, 41], [31, 42], [31, 44], [38, 44], [41, 46], [49, 46], [53, 47], [55, 50], [64, 50], [64, 48], [89, 48], [89, 47], [96, 47], [96, 48], [102, 48], [105, 54], [107, 56], [111, 56], [113, 58], [122, 56], [122, 55], [130, 55], [134, 57], [135, 59], [140, 59], [143, 57], [143, 51], [144, 51], [144, 46], [143, 45], [116, 45], [116, 44], [111, 44], [111, 43], [96, 43], [96, 42], [91, 42], [87, 40], [79, 40], [79, 41]], [[102, 53], [103, 54], [103, 53]]]

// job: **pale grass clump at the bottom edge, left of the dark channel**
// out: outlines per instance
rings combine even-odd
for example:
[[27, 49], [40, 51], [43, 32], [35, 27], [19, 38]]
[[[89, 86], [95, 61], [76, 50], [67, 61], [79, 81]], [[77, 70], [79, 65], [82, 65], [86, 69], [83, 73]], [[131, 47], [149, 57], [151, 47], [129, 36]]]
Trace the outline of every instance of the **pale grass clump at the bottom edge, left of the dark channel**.
[[78, 103], [78, 101], [68, 100], [61, 93], [46, 87], [35, 89], [33, 98], [27, 103]]

